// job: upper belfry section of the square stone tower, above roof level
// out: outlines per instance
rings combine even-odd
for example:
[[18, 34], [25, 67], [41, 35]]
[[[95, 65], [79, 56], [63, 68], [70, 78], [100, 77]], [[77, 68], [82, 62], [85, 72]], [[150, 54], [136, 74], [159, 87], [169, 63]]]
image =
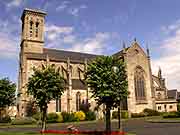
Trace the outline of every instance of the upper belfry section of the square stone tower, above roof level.
[[21, 51], [43, 53], [45, 16], [43, 11], [24, 9], [21, 16]]

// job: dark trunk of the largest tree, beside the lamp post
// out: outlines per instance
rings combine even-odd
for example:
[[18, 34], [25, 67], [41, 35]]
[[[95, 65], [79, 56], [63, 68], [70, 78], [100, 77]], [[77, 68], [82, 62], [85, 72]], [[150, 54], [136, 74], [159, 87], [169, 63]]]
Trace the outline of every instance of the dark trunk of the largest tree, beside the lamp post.
[[109, 135], [111, 132], [111, 106], [106, 104], [106, 132]]

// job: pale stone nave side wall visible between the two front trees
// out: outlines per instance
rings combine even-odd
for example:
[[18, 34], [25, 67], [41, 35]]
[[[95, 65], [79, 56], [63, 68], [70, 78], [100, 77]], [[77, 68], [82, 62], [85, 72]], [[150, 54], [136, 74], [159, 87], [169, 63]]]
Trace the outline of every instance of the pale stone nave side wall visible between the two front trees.
[[[40, 68], [42, 64], [45, 64], [46, 61], [42, 61], [42, 60], [27, 60], [27, 76], [26, 76], [26, 80], [28, 80], [28, 78], [33, 74], [33, 67], [35, 68]], [[60, 72], [63, 74], [62, 69], [67, 69], [67, 63], [65, 62], [53, 62], [50, 61], [49, 64], [54, 64], [56, 66], [56, 68], [60, 68]], [[78, 63], [70, 63], [71, 66], [71, 71], [72, 71], [72, 76], [71, 79], [79, 79], [79, 77], [81, 79], [84, 79], [84, 75], [83, 73], [79, 74], [79, 69], [81, 69], [82, 71], [84, 70], [84, 65], [83, 64], [78, 64]], [[64, 73], [64, 77], [67, 79], [67, 75], [66, 73]], [[63, 95], [61, 96], [61, 111], [67, 111], [67, 90], [66, 89], [63, 93]], [[87, 97], [87, 90], [82, 90], [82, 89], [73, 89], [71, 91], [71, 100], [70, 100], [70, 111], [74, 112], [76, 111], [76, 94], [77, 92], [81, 93], [81, 100], [85, 100], [91, 96], [91, 94], [89, 94], [89, 97]], [[89, 100], [90, 103], [92, 103], [91, 108], [94, 108], [95, 106], [95, 101], [93, 99]], [[51, 103], [48, 105], [48, 112], [56, 112], [56, 101], [51, 101]]]

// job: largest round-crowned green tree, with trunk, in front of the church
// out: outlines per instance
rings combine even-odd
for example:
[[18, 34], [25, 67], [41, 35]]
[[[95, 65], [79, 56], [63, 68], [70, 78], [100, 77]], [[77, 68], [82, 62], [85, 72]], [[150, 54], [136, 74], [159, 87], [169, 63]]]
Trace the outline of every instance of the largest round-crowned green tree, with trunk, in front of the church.
[[86, 82], [97, 104], [106, 106], [106, 131], [110, 132], [110, 110], [118, 107], [120, 101], [128, 95], [125, 63], [112, 56], [97, 57], [88, 64]]

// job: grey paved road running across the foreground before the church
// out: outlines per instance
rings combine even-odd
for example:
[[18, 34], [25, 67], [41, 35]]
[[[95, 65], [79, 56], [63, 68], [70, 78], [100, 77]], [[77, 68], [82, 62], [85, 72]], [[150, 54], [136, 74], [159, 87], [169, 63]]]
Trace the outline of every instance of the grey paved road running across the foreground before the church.
[[[48, 129], [66, 130], [69, 124], [53, 124], [48, 126]], [[104, 130], [105, 124], [103, 122], [84, 122], [76, 124], [79, 130]], [[112, 129], [117, 129], [117, 122], [112, 122]], [[148, 123], [144, 120], [129, 120], [123, 122], [123, 130], [136, 135], [180, 135], [180, 123]], [[18, 131], [39, 131], [39, 128], [16, 127], [16, 128], [0, 128], [0, 131], [18, 132]]]

